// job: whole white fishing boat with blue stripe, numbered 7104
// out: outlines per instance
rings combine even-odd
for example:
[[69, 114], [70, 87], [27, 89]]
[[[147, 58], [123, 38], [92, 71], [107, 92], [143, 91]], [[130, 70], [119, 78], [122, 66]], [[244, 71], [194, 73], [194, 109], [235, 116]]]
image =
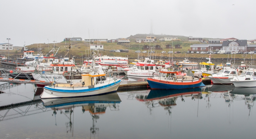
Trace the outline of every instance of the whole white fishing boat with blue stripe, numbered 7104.
[[82, 74], [82, 81], [78, 83], [56, 84], [44, 86], [41, 99], [72, 98], [82, 96], [94, 96], [115, 92], [121, 83], [121, 79], [115, 76], [106, 77], [104, 71], [94, 68], [89, 74]]

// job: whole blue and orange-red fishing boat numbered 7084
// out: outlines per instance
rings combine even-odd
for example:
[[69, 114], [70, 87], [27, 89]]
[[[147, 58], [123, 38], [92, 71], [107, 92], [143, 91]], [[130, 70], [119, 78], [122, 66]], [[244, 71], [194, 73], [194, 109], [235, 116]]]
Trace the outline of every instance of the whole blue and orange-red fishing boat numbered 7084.
[[186, 73], [162, 69], [158, 76], [147, 78], [151, 89], [186, 89], [205, 86], [202, 78], [186, 76]]

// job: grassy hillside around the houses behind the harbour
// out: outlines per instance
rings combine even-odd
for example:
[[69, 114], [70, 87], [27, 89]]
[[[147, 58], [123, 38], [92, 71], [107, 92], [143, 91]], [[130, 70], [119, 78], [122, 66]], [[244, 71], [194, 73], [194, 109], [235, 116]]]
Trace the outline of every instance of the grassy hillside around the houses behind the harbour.
[[[143, 48], [144, 45], [150, 45], [153, 46], [154, 43], [136, 43], [135, 39], [136, 38], [146, 38], [148, 34], [136, 34], [134, 36], [130, 36], [128, 38], [131, 39], [130, 44], [122, 44], [122, 45], [117, 45], [117, 43], [101, 43], [102, 45], [104, 45], [104, 50], [100, 51], [99, 53], [101, 53], [102, 55], [108, 55], [108, 56], [122, 56], [122, 57], [128, 57], [129, 59], [135, 59], [138, 57], [138, 53], [135, 53], [136, 50], [139, 50], [141, 48]], [[188, 56], [191, 59], [198, 59], [198, 58], [206, 58], [209, 57], [209, 55], [206, 54], [185, 54], [188, 50], [190, 50], [190, 45], [193, 44], [200, 44], [200, 42], [189, 42], [187, 41], [186, 36], [174, 36], [174, 35], [154, 35], [156, 37], [178, 37], [178, 39], [181, 39], [181, 41], [173, 41], [173, 45], [172, 45], [172, 41], [156, 41], [155, 45], [160, 45], [161, 48], [163, 48], [162, 50], [156, 50], [155, 55], [157, 56], [156, 59], [160, 59], [162, 57], [162, 59], [169, 59], [169, 54], [161, 54], [162, 51], [182, 51], [183, 54], [173, 54], [173, 59], [183, 59], [184, 57]], [[217, 39], [217, 38], [216, 38]], [[60, 42], [60, 43], [55, 43], [55, 50], [57, 50], [60, 47], [60, 50], [58, 51], [57, 57], [63, 57], [64, 55], [66, 55], [69, 51], [68, 48], [68, 44], [69, 42], [67, 42], [67, 44], [65, 44], [65, 41]], [[176, 44], [180, 44], [182, 46], [182, 49], [167, 49], [165, 48], [165, 45], [167, 44], [171, 44], [172, 46], [175, 46]], [[28, 50], [32, 50], [35, 51], [35, 54], [37, 52], [37, 48], [39, 48], [41, 45], [42, 48], [42, 52], [44, 55], [46, 55], [52, 48], [53, 48], [53, 44], [49, 44], [49, 50], [48, 50], [48, 44], [32, 44], [32, 45], [28, 45], [26, 47], [28, 47]], [[75, 56], [76, 59], [81, 59], [82, 55], [83, 58], [84, 57], [88, 57], [88, 53], [90, 53], [90, 48], [89, 48], [89, 43], [88, 42], [82, 42], [82, 41], [71, 41], [71, 57]], [[89, 49], [89, 50], [88, 50]], [[125, 53], [125, 52], [121, 52], [121, 53], [115, 53], [115, 52], [109, 52], [112, 49], [129, 49], [129, 53]], [[142, 50], [144, 51], [144, 50]], [[148, 50], [147, 50], [148, 52]], [[8, 50], [2, 50], [1, 52], [2, 55], [8, 56]], [[50, 53], [52, 54], [52, 52]], [[23, 49], [21, 49], [20, 51], [17, 50], [10, 50], [10, 58], [16, 58], [16, 57], [20, 57], [23, 56]], [[140, 57], [142, 56], [143, 58], [146, 57], [148, 54], [147, 53], [141, 53]], [[68, 57], [69, 54], [67, 54], [66, 57]], [[172, 54], [170, 55], [172, 56]], [[223, 58], [223, 59], [227, 59], [228, 55], [212, 55], [212, 58]], [[231, 57], [231, 55], [229, 55], [229, 57]], [[234, 56], [233, 56], [234, 57]], [[242, 55], [236, 55], [236, 58], [244, 58]], [[246, 57], [247, 59], [250, 59], [251, 56], [247, 55]]]

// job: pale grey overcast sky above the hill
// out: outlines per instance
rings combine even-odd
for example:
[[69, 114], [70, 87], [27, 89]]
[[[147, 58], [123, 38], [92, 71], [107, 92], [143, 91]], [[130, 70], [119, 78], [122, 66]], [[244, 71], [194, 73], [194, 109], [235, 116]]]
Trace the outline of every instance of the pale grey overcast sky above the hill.
[[[255, 0], [0, 0], [0, 43], [135, 34], [255, 39]], [[89, 36], [90, 33], [90, 36]]]

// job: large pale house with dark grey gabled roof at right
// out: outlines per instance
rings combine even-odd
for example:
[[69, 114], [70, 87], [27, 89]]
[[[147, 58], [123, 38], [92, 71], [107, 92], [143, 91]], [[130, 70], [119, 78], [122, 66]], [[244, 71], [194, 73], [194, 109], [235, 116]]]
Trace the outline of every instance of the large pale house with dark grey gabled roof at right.
[[247, 40], [229, 40], [222, 42], [222, 50], [229, 52], [246, 51]]

